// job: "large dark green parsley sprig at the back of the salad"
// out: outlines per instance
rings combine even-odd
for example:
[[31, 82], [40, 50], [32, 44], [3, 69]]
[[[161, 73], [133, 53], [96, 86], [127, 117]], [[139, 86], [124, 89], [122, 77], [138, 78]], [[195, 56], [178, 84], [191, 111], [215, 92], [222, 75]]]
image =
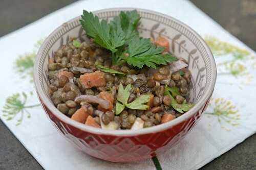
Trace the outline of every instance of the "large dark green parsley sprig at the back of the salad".
[[104, 19], [99, 21], [97, 16], [84, 10], [80, 22], [94, 42], [111, 51], [113, 65], [127, 62], [139, 68], [144, 65], [156, 68], [157, 64], [176, 61], [172, 55], [162, 54], [163, 47], [156, 47], [150, 39], [139, 37], [136, 30], [139, 20], [136, 10], [121, 12], [110, 23]]

